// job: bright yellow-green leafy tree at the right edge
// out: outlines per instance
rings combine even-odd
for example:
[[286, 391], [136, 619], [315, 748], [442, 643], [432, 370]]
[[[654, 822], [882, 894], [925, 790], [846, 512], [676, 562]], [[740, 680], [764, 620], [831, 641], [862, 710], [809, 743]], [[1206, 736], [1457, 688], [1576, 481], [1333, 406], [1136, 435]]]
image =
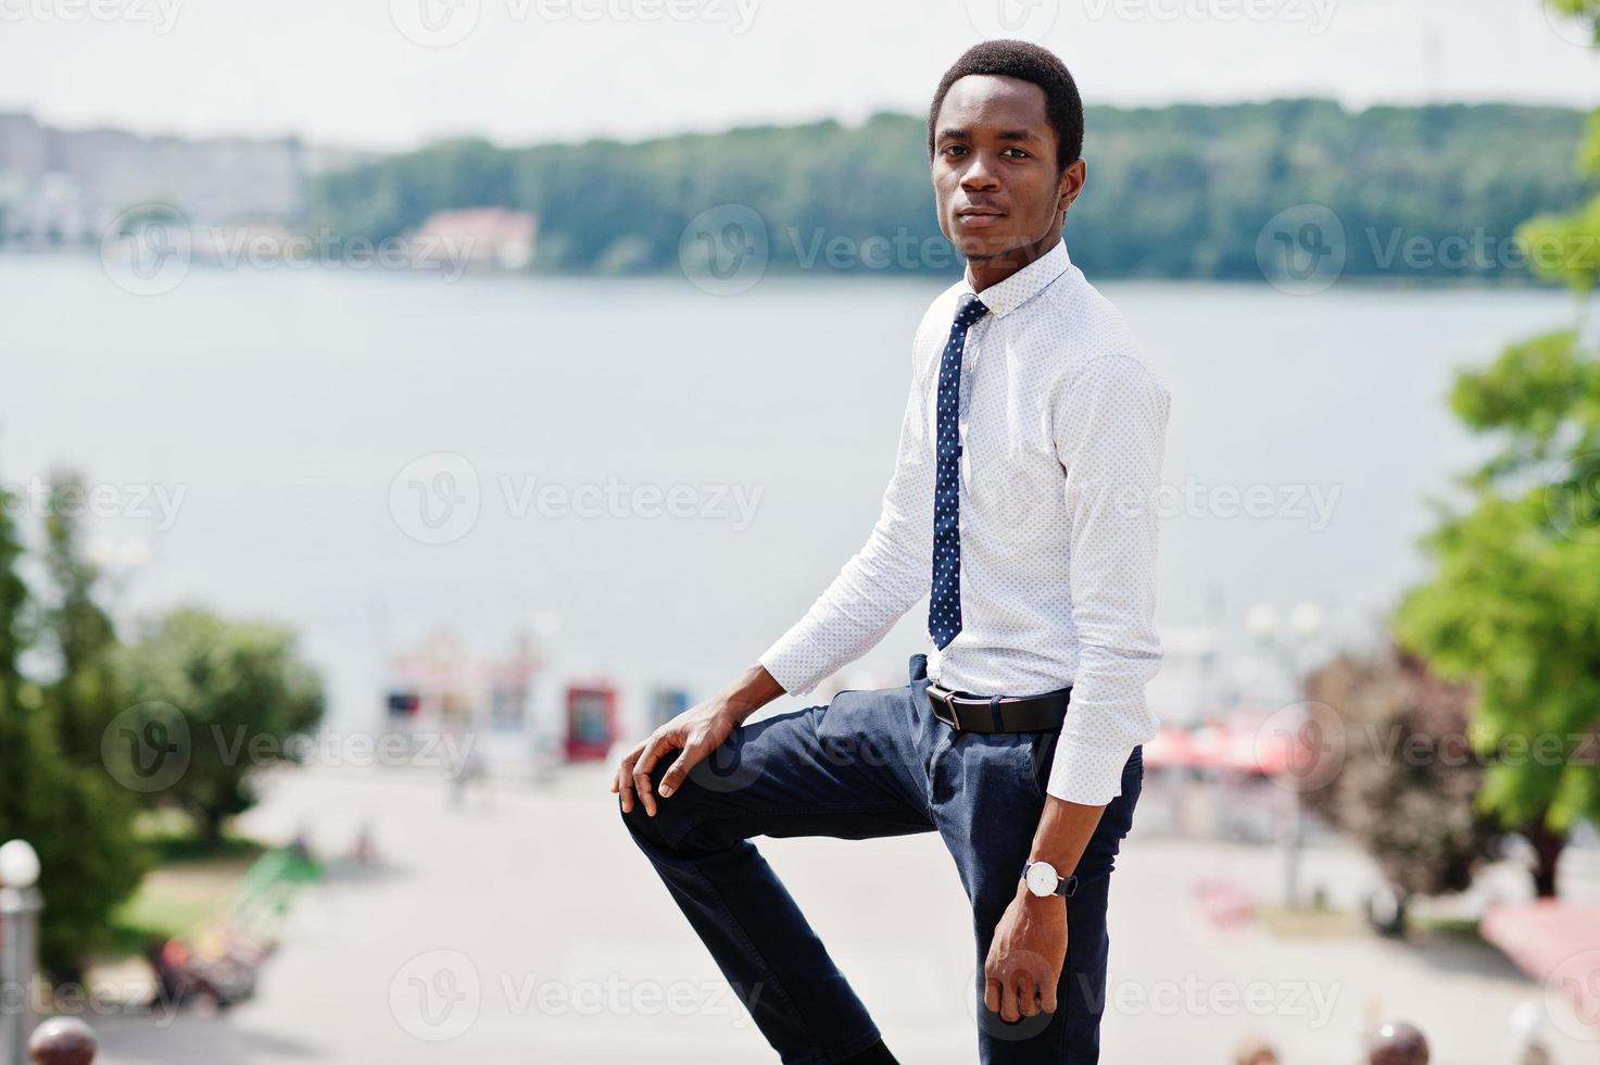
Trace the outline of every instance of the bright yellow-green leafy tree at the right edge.
[[[1600, 27], [1595, 0], [1552, 6]], [[1600, 173], [1600, 112], [1579, 168]], [[1541, 215], [1520, 237], [1541, 274], [1587, 295], [1600, 277], [1600, 197]], [[1462, 477], [1472, 506], [1435, 503], [1438, 564], [1395, 615], [1398, 639], [1478, 687], [1482, 802], [1533, 844], [1554, 895], [1568, 831], [1600, 820], [1600, 360], [1581, 330], [1512, 344], [1450, 397], [1501, 448]]]

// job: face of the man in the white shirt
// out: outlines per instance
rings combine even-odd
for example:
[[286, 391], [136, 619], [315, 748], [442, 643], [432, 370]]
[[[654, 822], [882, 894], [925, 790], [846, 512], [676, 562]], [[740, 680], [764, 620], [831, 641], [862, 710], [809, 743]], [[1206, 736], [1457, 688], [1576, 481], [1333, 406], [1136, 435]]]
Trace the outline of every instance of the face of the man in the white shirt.
[[1083, 160], [1056, 170], [1045, 90], [971, 74], [950, 85], [933, 125], [939, 229], [968, 259], [990, 259], [1058, 232], [1083, 187]]

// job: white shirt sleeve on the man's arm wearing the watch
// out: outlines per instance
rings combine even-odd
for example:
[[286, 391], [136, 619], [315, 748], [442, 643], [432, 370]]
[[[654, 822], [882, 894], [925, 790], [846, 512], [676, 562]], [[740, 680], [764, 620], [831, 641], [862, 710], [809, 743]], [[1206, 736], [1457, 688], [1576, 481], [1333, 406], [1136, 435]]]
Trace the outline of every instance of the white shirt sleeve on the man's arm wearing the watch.
[[1157, 492], [1170, 396], [1136, 356], [1090, 360], [1054, 408], [1070, 519], [1078, 668], [1046, 791], [1104, 806], [1158, 721], [1144, 685], [1162, 663], [1155, 633]]

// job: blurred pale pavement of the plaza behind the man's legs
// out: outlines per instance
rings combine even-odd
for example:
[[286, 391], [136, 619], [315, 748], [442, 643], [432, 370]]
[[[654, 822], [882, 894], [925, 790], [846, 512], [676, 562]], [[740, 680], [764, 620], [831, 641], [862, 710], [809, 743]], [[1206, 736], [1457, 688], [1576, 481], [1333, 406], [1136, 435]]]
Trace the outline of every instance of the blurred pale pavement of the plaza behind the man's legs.
[[[424, 770], [278, 772], [242, 828], [286, 841], [307, 826], [318, 854], [342, 854], [362, 820], [381, 868], [302, 897], [256, 999], [168, 1027], [96, 1019], [101, 1065], [776, 1060], [632, 847], [602, 767], [499, 783], [464, 810]], [[758, 846], [902, 1062], [976, 1060], [970, 914], [936, 836]], [[1283, 1065], [1350, 1065], [1376, 1015], [1421, 1025], [1435, 1065], [1506, 1065], [1509, 1015], [1541, 988], [1488, 948], [1277, 938], [1202, 916], [1194, 881], [1272, 898], [1280, 862], [1136, 826], [1112, 881], [1106, 1065], [1221, 1065], [1246, 1035]], [[1349, 850], [1307, 854], [1306, 882], [1349, 894], [1365, 878]], [[907, 882], [915, 894], [890, 887]], [[1568, 1041], [1554, 1065], [1594, 1062], [1600, 1044]]]

